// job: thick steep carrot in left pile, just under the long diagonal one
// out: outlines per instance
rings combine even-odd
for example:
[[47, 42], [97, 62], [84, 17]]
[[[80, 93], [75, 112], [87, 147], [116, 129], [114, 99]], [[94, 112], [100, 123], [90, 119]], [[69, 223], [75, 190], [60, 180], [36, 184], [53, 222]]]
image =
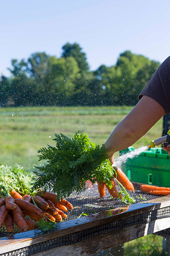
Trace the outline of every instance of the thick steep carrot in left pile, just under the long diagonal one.
[[[22, 199], [20, 199], [20, 200], [22, 200]], [[14, 209], [13, 211], [11, 211], [11, 213], [13, 215], [14, 223], [17, 225], [18, 229], [21, 232], [28, 231], [29, 227], [24, 220], [24, 216], [23, 216], [23, 213], [22, 213], [22, 210], [20, 209], [20, 207], [17, 205], [17, 208]]]

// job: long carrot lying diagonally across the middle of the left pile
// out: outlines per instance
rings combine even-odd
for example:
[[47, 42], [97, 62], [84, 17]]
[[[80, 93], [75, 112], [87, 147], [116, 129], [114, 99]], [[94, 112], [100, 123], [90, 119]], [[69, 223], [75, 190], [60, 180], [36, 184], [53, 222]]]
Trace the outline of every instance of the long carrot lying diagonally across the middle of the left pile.
[[22, 200], [22, 199], [15, 199], [15, 203], [23, 210], [25, 211], [29, 211], [32, 212], [34, 214], [37, 214], [38, 216], [40, 216], [41, 218], [45, 217], [45, 213], [41, 211], [41, 209], [39, 209], [38, 207], [36, 207], [35, 205]]

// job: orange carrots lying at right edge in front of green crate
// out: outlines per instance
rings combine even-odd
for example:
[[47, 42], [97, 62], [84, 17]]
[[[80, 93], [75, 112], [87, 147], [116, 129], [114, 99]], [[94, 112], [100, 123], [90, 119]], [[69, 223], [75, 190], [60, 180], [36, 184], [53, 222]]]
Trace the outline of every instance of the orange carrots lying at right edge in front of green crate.
[[158, 187], [158, 186], [146, 185], [146, 184], [141, 185], [140, 190], [142, 192], [155, 194], [155, 195], [169, 195], [170, 194], [170, 188]]

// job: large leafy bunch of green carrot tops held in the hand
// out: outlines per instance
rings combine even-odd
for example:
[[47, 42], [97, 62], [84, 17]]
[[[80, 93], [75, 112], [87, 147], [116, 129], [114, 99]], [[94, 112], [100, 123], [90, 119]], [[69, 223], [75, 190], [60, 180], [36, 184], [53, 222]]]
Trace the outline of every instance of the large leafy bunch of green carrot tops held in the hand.
[[114, 171], [106, 155], [104, 145], [91, 143], [86, 133], [76, 132], [73, 138], [55, 134], [56, 146], [42, 148], [39, 160], [46, 164], [37, 167], [34, 189], [53, 191], [58, 198], [64, 198], [76, 191], [85, 190], [85, 181], [110, 184]]

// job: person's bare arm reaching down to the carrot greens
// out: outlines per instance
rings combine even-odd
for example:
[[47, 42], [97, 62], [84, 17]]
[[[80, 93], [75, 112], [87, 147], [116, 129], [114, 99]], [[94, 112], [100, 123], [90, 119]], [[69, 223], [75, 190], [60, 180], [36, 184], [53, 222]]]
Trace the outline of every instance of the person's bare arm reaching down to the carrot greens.
[[132, 146], [163, 115], [165, 110], [159, 103], [148, 96], [143, 96], [104, 143], [110, 158], [115, 152]]

